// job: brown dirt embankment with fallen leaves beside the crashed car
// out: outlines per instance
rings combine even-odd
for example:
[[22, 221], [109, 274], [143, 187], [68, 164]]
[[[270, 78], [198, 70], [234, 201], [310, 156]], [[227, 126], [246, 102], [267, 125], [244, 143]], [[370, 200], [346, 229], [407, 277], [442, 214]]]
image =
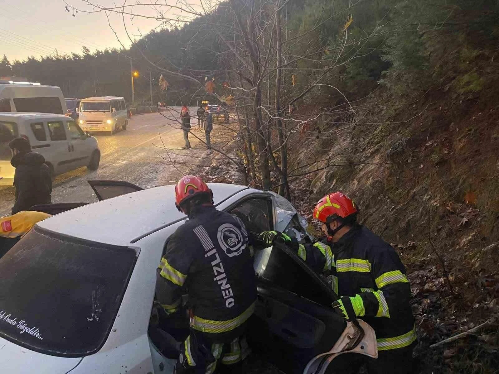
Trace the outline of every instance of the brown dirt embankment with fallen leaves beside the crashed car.
[[[496, 82], [497, 83], [497, 82]], [[293, 142], [295, 205], [344, 190], [361, 222], [408, 268], [421, 372], [497, 373], [499, 316], [499, 88], [473, 97], [430, 90], [410, 104], [371, 98], [308, 122]], [[296, 118], [315, 117], [304, 108]], [[353, 118], [353, 120], [352, 120]], [[314, 160], [318, 164], [303, 167]], [[341, 166], [334, 166], [341, 165]], [[431, 344], [489, 321], [472, 337]]]

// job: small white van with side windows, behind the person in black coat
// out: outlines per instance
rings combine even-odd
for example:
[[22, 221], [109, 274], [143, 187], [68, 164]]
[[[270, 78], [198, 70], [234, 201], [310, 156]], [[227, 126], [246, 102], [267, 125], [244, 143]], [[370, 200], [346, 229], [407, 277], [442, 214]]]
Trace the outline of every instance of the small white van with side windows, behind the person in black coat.
[[67, 116], [46, 113], [0, 113], [0, 186], [12, 186], [15, 169], [10, 165], [8, 142], [29, 140], [31, 149], [45, 158], [52, 175], [87, 166], [99, 167], [97, 139], [85, 134]]

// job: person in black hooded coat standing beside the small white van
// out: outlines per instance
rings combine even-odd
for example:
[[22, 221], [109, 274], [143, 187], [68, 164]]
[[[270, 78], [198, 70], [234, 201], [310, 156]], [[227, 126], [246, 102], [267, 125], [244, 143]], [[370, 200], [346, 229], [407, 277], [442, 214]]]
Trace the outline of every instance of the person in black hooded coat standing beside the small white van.
[[33, 205], [51, 202], [52, 177], [45, 165], [45, 158], [31, 151], [29, 141], [24, 138], [12, 139], [8, 146], [12, 152], [10, 164], [15, 168], [15, 203], [12, 214], [29, 210]]

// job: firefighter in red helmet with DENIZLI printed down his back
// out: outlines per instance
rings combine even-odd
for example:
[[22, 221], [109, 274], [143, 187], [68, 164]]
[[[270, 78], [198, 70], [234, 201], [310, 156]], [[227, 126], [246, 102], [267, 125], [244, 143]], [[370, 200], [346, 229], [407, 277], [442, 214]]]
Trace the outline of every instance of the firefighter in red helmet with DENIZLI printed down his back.
[[233, 373], [250, 353], [244, 333], [256, 300], [248, 232], [239, 217], [215, 208], [198, 177], [182, 177], [175, 200], [189, 220], [170, 237], [156, 285], [169, 315], [182, 307], [183, 288], [189, 293], [191, 329], [175, 373]]

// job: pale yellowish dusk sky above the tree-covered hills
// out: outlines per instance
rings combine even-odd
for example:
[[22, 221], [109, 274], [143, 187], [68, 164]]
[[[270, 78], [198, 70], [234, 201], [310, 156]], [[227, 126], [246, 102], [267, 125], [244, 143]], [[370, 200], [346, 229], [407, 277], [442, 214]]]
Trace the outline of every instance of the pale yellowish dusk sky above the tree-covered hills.
[[[77, 8], [92, 10], [81, 0], [67, 0], [67, 2]], [[96, 2], [104, 5], [113, 3], [108, 0]], [[166, 2], [181, 5], [181, 1], [177, 0]], [[214, 1], [203, 0], [203, 2], [207, 3], [205, 5], [213, 6]], [[198, 11], [199, 3], [200, 0], [185, 0], [182, 7]], [[145, 15], [157, 14], [151, 6], [134, 8], [133, 12]], [[12, 62], [23, 60], [28, 56], [51, 54], [55, 49], [61, 54], [72, 52], [81, 54], [83, 46], [92, 52], [106, 47], [121, 48], [103, 12], [92, 14], [79, 12], [75, 13], [75, 17], [72, 14], [72, 11], [65, 10], [65, 3], [62, 0], [0, 0], [0, 57], [5, 54]], [[183, 19], [193, 16], [179, 9], [171, 9], [167, 15]], [[151, 29], [160, 26], [157, 20], [140, 17], [125, 16], [125, 22], [132, 39], [138, 39], [141, 34], [147, 34]], [[110, 23], [120, 41], [128, 47], [130, 39], [125, 33], [121, 15], [111, 14]]]

